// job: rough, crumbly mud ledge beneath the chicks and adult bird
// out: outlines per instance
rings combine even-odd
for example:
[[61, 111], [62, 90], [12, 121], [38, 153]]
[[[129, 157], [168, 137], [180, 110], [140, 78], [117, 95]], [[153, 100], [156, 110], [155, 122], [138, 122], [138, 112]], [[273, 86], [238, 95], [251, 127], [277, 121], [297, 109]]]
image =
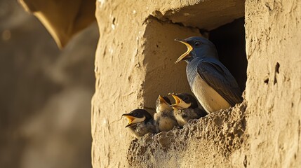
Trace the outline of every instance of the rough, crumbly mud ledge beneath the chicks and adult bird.
[[245, 138], [245, 111], [246, 103], [237, 104], [192, 120], [182, 129], [134, 139], [128, 162], [131, 167], [229, 167], [225, 160]]

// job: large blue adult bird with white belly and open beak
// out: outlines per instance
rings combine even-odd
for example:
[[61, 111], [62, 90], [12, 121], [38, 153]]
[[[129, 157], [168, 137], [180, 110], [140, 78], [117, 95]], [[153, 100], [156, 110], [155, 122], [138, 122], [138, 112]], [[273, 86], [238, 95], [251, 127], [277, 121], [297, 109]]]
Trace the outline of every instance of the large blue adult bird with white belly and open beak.
[[229, 70], [218, 60], [215, 45], [203, 37], [178, 40], [188, 50], [175, 63], [187, 62], [188, 83], [196, 99], [208, 113], [241, 103], [241, 90]]

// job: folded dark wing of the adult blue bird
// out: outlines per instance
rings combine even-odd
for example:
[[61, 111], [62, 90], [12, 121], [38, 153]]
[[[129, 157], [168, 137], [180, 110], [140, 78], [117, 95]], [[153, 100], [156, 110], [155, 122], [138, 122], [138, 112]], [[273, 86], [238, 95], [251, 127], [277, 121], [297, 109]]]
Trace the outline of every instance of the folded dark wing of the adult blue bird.
[[235, 78], [220, 62], [203, 61], [197, 66], [197, 72], [231, 106], [243, 101], [241, 90]]

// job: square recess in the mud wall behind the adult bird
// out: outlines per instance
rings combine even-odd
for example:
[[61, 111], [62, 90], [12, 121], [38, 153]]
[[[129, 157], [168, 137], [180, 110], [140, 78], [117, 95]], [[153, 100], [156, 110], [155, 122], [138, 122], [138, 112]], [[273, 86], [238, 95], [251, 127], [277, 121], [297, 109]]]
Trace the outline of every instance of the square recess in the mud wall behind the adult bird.
[[[192, 22], [199, 22], [196, 18]], [[224, 22], [223, 20], [222, 22]], [[195, 23], [199, 25], [199, 23]], [[246, 88], [246, 41], [244, 18], [239, 18], [226, 25], [206, 31], [193, 25], [175, 24], [168, 18], [160, 20], [150, 16], [146, 21], [144, 38], [146, 42], [143, 49], [145, 55], [144, 64], [147, 66], [144, 83], [145, 109], [154, 113], [156, 98], [167, 95], [168, 92], [188, 92], [192, 94], [187, 82], [186, 62], [174, 64], [175, 60], [184, 53], [187, 48], [174, 41], [175, 38], [187, 38], [189, 36], [209, 36], [219, 53], [220, 62], [236, 78], [241, 91]], [[172, 100], [172, 98], [170, 98]], [[172, 100], [173, 101], [173, 100]]]

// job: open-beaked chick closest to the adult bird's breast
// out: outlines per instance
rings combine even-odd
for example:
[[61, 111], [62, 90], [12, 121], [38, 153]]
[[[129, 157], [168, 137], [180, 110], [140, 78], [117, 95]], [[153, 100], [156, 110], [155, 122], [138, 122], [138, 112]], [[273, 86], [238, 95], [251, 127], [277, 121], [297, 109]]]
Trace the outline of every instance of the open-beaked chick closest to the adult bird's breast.
[[199, 109], [198, 102], [191, 94], [170, 93], [170, 95], [175, 99], [175, 104], [171, 104], [170, 106], [173, 107], [173, 114], [181, 127], [187, 124], [189, 120], [199, 119], [207, 115], [206, 111]]

